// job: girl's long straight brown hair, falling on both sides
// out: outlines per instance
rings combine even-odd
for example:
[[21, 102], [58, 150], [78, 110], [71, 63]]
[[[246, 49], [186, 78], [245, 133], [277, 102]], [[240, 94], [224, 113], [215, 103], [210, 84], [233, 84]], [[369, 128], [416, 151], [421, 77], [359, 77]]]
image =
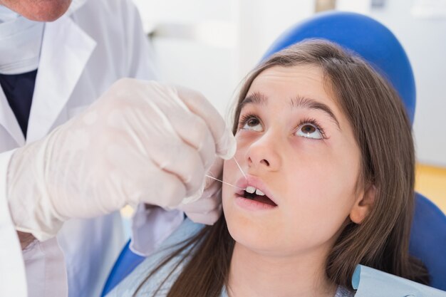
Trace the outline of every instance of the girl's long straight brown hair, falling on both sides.
[[[363, 264], [427, 284], [429, 277], [424, 266], [408, 254], [415, 202], [415, 153], [408, 116], [393, 87], [362, 58], [318, 40], [297, 43], [275, 53], [254, 69], [242, 85], [234, 110], [233, 132], [237, 132], [240, 103], [254, 79], [271, 67], [299, 65], [313, 65], [323, 71], [326, 88], [346, 115], [361, 150], [358, 186], [373, 185], [376, 189], [368, 217], [361, 224], [347, 224], [328, 254], [328, 278], [351, 288], [353, 271], [357, 264]], [[234, 249], [224, 216], [182, 243], [177, 254], [165, 259], [147, 278], [187, 248], [191, 252], [182, 261], [190, 259], [167, 296], [219, 296], [227, 283]]]

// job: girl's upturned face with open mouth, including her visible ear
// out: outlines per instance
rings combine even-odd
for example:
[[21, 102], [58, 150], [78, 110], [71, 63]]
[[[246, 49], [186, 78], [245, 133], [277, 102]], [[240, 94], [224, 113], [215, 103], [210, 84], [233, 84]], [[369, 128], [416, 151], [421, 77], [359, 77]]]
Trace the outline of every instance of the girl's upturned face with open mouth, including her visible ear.
[[223, 179], [256, 192], [223, 184], [230, 234], [266, 254], [328, 252], [348, 217], [361, 217], [364, 192], [356, 189], [360, 150], [322, 71], [269, 68], [242, 105], [235, 158], [247, 178], [228, 160]]

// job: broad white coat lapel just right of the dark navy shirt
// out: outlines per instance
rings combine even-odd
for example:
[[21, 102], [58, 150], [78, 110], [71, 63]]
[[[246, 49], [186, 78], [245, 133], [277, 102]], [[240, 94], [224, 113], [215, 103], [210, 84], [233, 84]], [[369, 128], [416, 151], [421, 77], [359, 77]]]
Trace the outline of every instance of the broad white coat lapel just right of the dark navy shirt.
[[95, 46], [93, 38], [68, 16], [46, 24], [26, 142], [50, 132]]

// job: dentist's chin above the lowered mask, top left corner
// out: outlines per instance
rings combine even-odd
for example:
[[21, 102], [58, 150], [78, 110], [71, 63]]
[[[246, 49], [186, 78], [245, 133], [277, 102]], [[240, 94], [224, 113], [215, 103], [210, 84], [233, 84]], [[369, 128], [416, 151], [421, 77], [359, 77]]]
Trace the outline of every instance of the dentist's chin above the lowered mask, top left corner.
[[70, 4], [71, 0], [14, 0], [11, 5], [5, 3], [10, 9], [31, 21], [56, 21], [66, 13]]

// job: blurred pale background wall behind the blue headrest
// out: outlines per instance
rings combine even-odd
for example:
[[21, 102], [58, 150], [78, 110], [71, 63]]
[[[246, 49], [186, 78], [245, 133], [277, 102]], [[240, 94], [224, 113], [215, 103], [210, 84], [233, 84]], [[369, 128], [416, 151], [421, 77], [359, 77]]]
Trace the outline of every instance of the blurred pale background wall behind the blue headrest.
[[237, 85], [289, 26], [327, 9], [388, 26], [415, 72], [417, 189], [446, 211], [446, 0], [134, 0], [160, 77], [227, 115]]

